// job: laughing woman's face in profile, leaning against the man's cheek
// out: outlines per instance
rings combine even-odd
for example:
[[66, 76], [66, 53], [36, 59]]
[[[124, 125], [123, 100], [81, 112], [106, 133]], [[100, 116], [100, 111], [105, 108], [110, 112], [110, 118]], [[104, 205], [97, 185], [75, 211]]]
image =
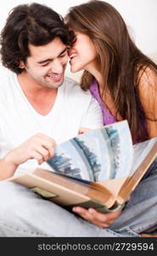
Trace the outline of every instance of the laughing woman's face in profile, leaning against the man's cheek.
[[76, 33], [76, 43], [69, 49], [70, 71], [91, 71], [95, 67], [96, 49], [92, 40], [81, 32]]

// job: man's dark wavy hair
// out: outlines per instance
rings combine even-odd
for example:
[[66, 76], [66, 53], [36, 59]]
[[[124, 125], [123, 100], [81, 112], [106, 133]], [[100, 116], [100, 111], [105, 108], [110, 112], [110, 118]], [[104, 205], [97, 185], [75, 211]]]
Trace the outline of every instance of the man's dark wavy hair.
[[3, 66], [14, 73], [22, 73], [24, 69], [19, 65], [30, 56], [28, 44], [45, 45], [56, 37], [66, 45], [75, 39], [74, 33], [53, 9], [38, 3], [18, 5], [11, 10], [1, 33]]

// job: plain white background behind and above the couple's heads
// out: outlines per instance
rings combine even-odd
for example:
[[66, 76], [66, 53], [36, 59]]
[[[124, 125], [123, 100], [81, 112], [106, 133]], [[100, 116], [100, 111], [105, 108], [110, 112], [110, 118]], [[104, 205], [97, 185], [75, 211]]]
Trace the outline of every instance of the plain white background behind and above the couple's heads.
[[[0, 30], [8, 12], [20, 3], [42, 3], [65, 15], [70, 6], [86, 3], [87, 0], [4, 0], [0, 7]], [[132, 34], [137, 47], [157, 60], [157, 0], [106, 0], [115, 6]]]

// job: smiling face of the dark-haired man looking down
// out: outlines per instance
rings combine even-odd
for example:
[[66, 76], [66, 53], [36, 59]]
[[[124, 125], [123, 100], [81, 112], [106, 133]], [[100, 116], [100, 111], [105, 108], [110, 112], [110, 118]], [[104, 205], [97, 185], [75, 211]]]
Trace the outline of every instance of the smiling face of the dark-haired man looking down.
[[68, 62], [67, 47], [60, 38], [54, 38], [46, 45], [29, 44], [31, 55], [27, 57], [25, 75], [36, 84], [57, 89], [64, 81], [64, 71]]

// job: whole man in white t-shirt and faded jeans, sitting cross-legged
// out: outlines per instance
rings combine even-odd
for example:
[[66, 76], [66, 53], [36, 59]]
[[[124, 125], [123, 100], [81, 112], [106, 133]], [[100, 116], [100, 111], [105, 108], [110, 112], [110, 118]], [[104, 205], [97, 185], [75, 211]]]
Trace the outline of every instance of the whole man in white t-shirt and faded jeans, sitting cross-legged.
[[[43, 166], [55, 142], [102, 125], [98, 105], [88, 92], [64, 79], [66, 46], [73, 39], [59, 15], [43, 5], [20, 5], [8, 16], [1, 53], [3, 65], [14, 73], [0, 80], [2, 180], [19, 172], [18, 166], [33, 169], [36, 160]], [[139, 236], [143, 230], [154, 230], [155, 164], [150, 171], [154, 176], [135, 189], [120, 218], [120, 212], [80, 209], [88, 222], [23, 186], [1, 181], [0, 236]]]

